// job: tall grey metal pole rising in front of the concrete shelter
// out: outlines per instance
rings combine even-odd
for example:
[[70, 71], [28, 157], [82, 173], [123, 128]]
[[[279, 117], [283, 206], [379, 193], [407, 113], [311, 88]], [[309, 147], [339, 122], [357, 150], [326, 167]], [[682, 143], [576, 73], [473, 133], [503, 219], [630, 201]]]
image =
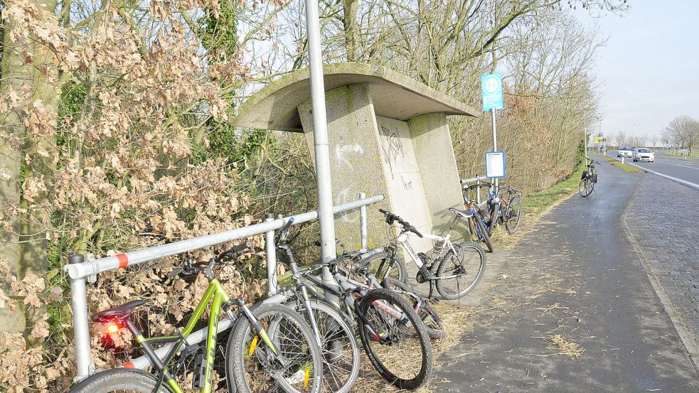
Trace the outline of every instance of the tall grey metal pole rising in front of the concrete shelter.
[[[316, 183], [318, 186], [318, 220], [321, 226], [321, 259], [337, 257], [335, 249], [335, 220], [333, 191], [330, 178], [330, 149], [325, 112], [325, 86], [321, 58], [318, 1], [306, 0], [306, 30], [308, 33], [309, 66], [311, 68], [311, 103], [313, 104], [313, 143], [316, 155]], [[323, 279], [333, 281], [328, 268], [323, 268]], [[334, 282], [334, 281], [333, 281]]]

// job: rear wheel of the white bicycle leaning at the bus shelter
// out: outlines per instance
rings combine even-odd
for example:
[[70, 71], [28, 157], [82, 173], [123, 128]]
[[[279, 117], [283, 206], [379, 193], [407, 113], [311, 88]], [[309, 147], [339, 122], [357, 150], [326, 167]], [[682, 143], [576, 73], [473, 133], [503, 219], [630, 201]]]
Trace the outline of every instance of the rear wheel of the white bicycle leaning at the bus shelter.
[[[439, 262], [439, 267], [437, 268], [437, 277], [458, 274], [459, 269], [464, 269], [463, 264], [464, 255], [466, 251], [476, 252], [478, 261], [476, 262], [477, 265], [474, 266], [476, 267], [476, 273], [472, 275], [473, 279], [470, 280], [470, 283], [468, 285], [463, 286], [463, 289], [461, 289], [462, 286], [460, 284], [457, 284], [457, 291], [451, 291], [446, 286], [446, 284], [447, 281], [452, 281], [449, 281], [447, 279], [434, 281], [435, 286], [437, 286], [437, 292], [439, 292], [439, 294], [442, 295], [443, 298], [448, 300], [462, 298], [470, 291], [473, 291], [474, 288], [476, 288], [476, 285], [478, 285], [479, 281], [481, 281], [481, 277], [483, 277], [483, 272], [486, 268], [486, 253], [483, 251], [483, 248], [481, 248], [479, 244], [474, 242], [461, 243], [454, 246], [454, 249], [457, 250], [457, 253], [459, 253], [459, 255], [454, 254], [454, 251], [450, 249], [449, 252], [447, 252], [447, 254], [444, 255], [444, 258], [442, 258], [442, 262]], [[471, 255], [471, 257], [474, 257], [474, 255]], [[456, 264], [454, 264], [455, 261]], [[469, 258], [469, 265], [471, 264], [470, 262], [474, 261], [472, 261], [471, 258]], [[450, 264], [454, 266], [454, 272], [449, 271], [451, 269]], [[466, 284], [466, 282], [468, 281], [469, 280], [466, 279], [466, 281], [464, 281], [464, 284]]]

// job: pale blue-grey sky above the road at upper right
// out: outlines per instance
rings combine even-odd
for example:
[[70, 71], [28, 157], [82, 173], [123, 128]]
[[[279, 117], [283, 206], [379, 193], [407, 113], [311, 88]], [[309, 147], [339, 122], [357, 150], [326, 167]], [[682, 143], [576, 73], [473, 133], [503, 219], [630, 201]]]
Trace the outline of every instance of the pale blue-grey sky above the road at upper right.
[[699, 0], [629, 3], [621, 17], [580, 14], [609, 36], [597, 60], [602, 132], [659, 134], [678, 115], [699, 119]]

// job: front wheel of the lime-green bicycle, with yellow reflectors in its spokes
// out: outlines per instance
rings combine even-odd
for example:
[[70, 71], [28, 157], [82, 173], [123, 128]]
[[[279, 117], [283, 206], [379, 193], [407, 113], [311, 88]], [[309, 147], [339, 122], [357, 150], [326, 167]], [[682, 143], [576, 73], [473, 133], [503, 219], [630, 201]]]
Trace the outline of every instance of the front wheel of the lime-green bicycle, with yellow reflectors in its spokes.
[[[303, 337], [302, 340], [304, 340], [303, 343], [300, 343], [297, 345], [301, 350], [306, 350], [306, 347], [304, 345], [307, 345], [307, 350], [309, 350], [310, 355], [311, 355], [311, 365], [304, 363], [305, 368], [299, 367], [299, 370], [296, 372], [293, 372], [292, 370], [292, 375], [290, 376], [284, 376], [284, 377], [279, 377], [279, 372], [282, 370], [265, 370], [262, 373], [267, 373], [269, 375], [269, 379], [273, 379], [274, 382], [272, 382], [272, 386], [263, 386], [260, 387], [259, 385], [255, 384], [255, 388], [260, 388], [262, 390], [256, 390], [255, 393], [257, 392], [287, 392], [287, 393], [321, 393], [321, 388], [322, 388], [322, 370], [323, 370], [323, 361], [321, 360], [322, 354], [321, 350], [316, 343], [316, 339], [314, 338], [313, 332], [311, 328], [309, 327], [308, 323], [304, 320], [302, 316], [299, 316], [298, 313], [292, 311], [290, 308], [283, 306], [281, 304], [277, 303], [262, 303], [260, 306], [257, 306], [252, 309], [252, 313], [257, 317], [258, 319], [264, 319], [266, 317], [276, 317], [276, 318], [281, 318], [282, 316], [286, 318], [289, 323], [291, 323], [291, 328], [294, 328], [298, 330], [298, 333], [300, 333]], [[270, 334], [270, 338], [272, 340], [275, 340], [275, 335], [272, 331], [272, 324], [277, 323], [277, 326], [281, 326], [281, 322], [279, 320], [273, 321], [272, 323], [268, 323], [267, 327], [270, 328], [270, 330], [267, 331], [267, 333]], [[264, 325], [264, 323], [263, 323]], [[247, 357], [252, 358], [252, 355], [260, 355], [260, 352], [262, 350], [259, 350], [260, 352], [257, 352], [258, 349], [262, 347], [262, 345], [256, 345], [257, 340], [255, 338], [251, 338], [252, 343], [250, 345], [247, 345], [247, 338], [250, 335], [250, 328], [251, 328], [251, 323], [250, 320], [242, 317], [238, 318], [237, 323], [235, 323], [235, 327], [233, 329], [233, 333], [230, 334], [228, 338], [228, 348], [226, 350], [226, 357], [225, 357], [225, 366], [226, 366], [226, 375], [228, 376], [228, 382], [229, 386], [235, 386], [236, 392], [238, 393], [253, 393], [250, 384], [248, 382], [248, 377], [249, 375], [247, 374], [245, 370], [245, 362], [246, 362], [246, 354], [250, 354]], [[257, 337], [257, 336], [255, 336]], [[281, 342], [281, 341], [280, 341]], [[283, 343], [284, 345], [287, 346], [292, 346], [295, 345], [294, 341], [292, 340], [285, 340]], [[280, 350], [283, 351], [283, 348], [279, 348]], [[264, 355], [262, 355], [264, 357]], [[294, 359], [295, 360], [295, 359]], [[255, 362], [255, 359], [247, 359], [247, 361], [252, 361]], [[260, 362], [260, 367], [264, 369], [265, 367], [268, 367], [269, 365], [263, 364], [265, 363], [265, 360], [262, 360]], [[309, 367], [311, 366], [312, 369]], [[257, 367], [257, 365], [255, 365]], [[303, 365], [302, 365], [303, 367]], [[310, 379], [310, 383], [307, 384], [303, 390], [299, 390], [299, 385], [296, 384], [296, 386], [292, 387], [289, 384], [289, 380], [294, 379], [299, 375], [299, 372], [302, 372], [302, 370], [305, 370], [308, 372], [308, 370], [321, 370], [321, 372], [313, 372], [313, 376]], [[257, 369], [255, 369], [257, 371]], [[302, 372], [303, 373], [303, 372]], [[260, 374], [259, 372], [255, 372], [255, 374]], [[271, 375], [274, 374], [274, 377]], [[288, 375], [288, 374], [287, 374]], [[233, 379], [233, 380], [231, 380]], [[303, 377], [302, 377], [303, 379]], [[308, 377], [306, 377], [306, 381], [308, 381]], [[301, 383], [300, 381], [298, 383]], [[304, 382], [305, 384], [306, 382]]]

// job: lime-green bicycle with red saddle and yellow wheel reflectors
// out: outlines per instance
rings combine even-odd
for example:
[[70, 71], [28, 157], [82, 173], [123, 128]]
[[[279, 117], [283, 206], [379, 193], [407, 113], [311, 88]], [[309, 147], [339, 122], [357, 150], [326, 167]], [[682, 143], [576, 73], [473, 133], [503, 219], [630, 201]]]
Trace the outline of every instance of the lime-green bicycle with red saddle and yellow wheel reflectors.
[[[276, 303], [259, 303], [248, 308], [241, 298], [230, 298], [214, 276], [213, 268], [218, 262], [227, 255], [239, 254], [247, 247], [250, 247], [250, 243], [235, 246], [209, 262], [193, 264], [190, 260], [184, 267], [168, 274], [172, 277], [177, 274], [198, 274], [203, 270], [209, 281], [206, 294], [198, 303], [187, 325], [183, 330], [175, 330], [173, 335], [144, 337], [130, 318], [132, 308], [145, 303], [142, 300], [130, 301], [92, 316], [92, 321], [104, 324], [107, 332], [115, 333], [119, 328], [127, 328], [149, 357], [154, 370], [152, 373], [136, 370], [128, 368], [129, 363], [125, 363], [125, 367], [105, 370], [87, 377], [70, 392], [183, 393], [169, 368], [178, 352], [194, 351], [199, 352], [196, 363], [201, 362], [201, 366], [198, 372], [194, 372], [193, 387], [202, 393], [212, 392], [215, 390], [212, 379], [218, 319], [223, 311], [228, 318], [235, 321], [225, 357], [229, 387], [235, 387], [236, 391], [241, 393], [320, 393], [323, 370], [321, 350], [304, 318], [289, 307]], [[205, 264], [206, 267], [201, 269]], [[200, 348], [197, 344], [189, 345], [187, 337], [200, 321], [209, 303], [211, 308], [206, 346]], [[238, 315], [231, 311], [232, 306], [238, 307]], [[164, 359], [161, 359], [156, 355], [153, 345], [167, 343], [175, 345]]]

